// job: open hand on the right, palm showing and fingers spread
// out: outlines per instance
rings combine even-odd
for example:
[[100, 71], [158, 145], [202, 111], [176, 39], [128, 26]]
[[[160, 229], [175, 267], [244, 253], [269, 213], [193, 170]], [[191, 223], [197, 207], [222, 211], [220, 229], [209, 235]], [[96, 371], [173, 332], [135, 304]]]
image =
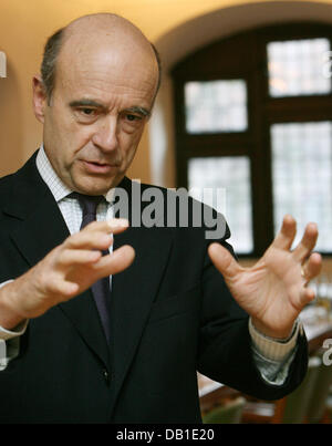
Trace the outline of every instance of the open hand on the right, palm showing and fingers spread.
[[284, 216], [280, 232], [251, 268], [241, 267], [221, 245], [211, 243], [208, 249], [238, 304], [270, 338], [288, 338], [301, 310], [314, 299], [314, 291], [307, 286], [322, 266], [321, 256], [311, 252], [318, 238], [317, 225], [308, 224], [302, 240], [291, 250], [295, 234], [295, 220]]

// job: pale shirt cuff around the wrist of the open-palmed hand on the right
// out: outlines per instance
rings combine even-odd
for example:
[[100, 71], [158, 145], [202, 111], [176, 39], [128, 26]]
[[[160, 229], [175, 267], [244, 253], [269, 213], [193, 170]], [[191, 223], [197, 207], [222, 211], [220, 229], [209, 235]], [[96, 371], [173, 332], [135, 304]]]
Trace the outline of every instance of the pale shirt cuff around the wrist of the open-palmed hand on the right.
[[282, 362], [294, 350], [297, 345], [298, 334], [302, 332], [303, 328], [299, 321], [295, 321], [290, 338], [286, 340], [277, 340], [260, 333], [252, 324], [251, 318], [249, 318], [249, 333], [253, 343], [253, 348], [257, 352], [276, 362]]

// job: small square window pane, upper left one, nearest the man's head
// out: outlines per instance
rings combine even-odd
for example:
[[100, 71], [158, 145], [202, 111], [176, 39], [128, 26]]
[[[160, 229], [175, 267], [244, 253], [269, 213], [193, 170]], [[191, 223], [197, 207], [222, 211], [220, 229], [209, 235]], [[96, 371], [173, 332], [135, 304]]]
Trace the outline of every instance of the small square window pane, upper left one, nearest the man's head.
[[187, 82], [185, 106], [188, 133], [247, 129], [247, 86], [242, 80]]

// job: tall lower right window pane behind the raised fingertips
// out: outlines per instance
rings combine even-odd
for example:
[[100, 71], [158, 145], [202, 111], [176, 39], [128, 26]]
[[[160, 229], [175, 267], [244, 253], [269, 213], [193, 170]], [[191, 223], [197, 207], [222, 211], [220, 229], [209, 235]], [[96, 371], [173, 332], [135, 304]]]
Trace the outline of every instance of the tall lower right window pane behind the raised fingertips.
[[332, 123], [271, 127], [274, 232], [282, 217], [298, 221], [295, 243], [309, 221], [319, 225], [319, 251], [332, 251]]

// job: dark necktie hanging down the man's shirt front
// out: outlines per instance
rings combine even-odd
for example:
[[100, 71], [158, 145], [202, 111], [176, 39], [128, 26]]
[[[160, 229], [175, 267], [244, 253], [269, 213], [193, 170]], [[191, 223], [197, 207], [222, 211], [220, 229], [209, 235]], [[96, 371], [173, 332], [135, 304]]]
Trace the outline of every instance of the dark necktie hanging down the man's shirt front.
[[[81, 205], [83, 211], [81, 229], [83, 229], [90, 222], [96, 220], [96, 208], [98, 204], [105, 199], [103, 196], [89, 196], [79, 193], [73, 193], [70, 196], [76, 198]], [[108, 251], [103, 251], [103, 256], [105, 255], [108, 255]], [[100, 313], [102, 325], [104, 328], [107, 343], [110, 343], [110, 277], [97, 280], [95, 283], [93, 283], [91, 289]]]

